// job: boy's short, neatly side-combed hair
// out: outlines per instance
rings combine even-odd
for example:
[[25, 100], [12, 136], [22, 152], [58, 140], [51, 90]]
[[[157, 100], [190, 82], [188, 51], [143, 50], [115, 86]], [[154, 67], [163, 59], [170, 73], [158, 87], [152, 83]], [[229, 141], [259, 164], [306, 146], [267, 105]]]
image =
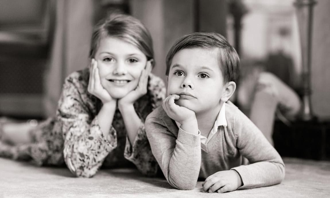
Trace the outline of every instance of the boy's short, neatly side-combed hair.
[[172, 59], [181, 49], [219, 49], [218, 60], [224, 83], [236, 81], [239, 75], [239, 56], [236, 50], [221, 34], [215, 32], [195, 32], [180, 37], [166, 56], [166, 76], [170, 71]]

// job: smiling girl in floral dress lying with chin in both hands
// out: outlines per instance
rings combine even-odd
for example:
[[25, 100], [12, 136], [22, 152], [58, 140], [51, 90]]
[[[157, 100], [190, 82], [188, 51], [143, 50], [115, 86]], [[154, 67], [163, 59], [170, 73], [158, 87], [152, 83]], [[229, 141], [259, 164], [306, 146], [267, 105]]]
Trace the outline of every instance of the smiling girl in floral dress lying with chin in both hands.
[[[101, 166], [131, 162], [142, 174], [155, 175], [158, 165], [144, 120], [165, 98], [165, 87], [150, 73], [149, 31], [132, 16], [112, 15], [95, 27], [90, 59], [89, 68], [66, 78], [56, 117], [30, 130], [28, 144], [0, 142], [0, 156], [32, 159], [38, 165], [65, 162], [82, 177], [92, 177]], [[7, 139], [15, 135], [3, 133]]]

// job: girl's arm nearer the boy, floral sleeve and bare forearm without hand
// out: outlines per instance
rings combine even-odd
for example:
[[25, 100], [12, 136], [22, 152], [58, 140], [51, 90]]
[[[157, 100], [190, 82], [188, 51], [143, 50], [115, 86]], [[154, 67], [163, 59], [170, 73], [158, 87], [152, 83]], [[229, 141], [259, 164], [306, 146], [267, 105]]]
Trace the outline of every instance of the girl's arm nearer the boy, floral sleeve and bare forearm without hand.
[[126, 108], [118, 106], [127, 130], [125, 158], [133, 162], [142, 174], [154, 176], [158, 171], [158, 164], [151, 152], [144, 120], [154, 108], [161, 104], [165, 98], [166, 89], [159, 77], [149, 74], [148, 90], [149, 97], [142, 97], [139, 100], [141, 108], [137, 110], [138, 112], [134, 110], [133, 105]]

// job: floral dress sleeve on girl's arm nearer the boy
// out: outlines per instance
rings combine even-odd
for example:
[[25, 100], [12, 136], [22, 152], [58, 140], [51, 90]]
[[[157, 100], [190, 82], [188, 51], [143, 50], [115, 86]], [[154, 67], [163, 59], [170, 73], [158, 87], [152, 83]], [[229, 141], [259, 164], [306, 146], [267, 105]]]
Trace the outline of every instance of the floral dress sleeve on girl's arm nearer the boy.
[[150, 100], [144, 101], [146, 108], [143, 108], [141, 113], [138, 113], [141, 119], [141, 125], [137, 131], [134, 142], [131, 144], [126, 136], [124, 157], [133, 162], [142, 174], [146, 176], [155, 176], [159, 167], [151, 152], [144, 120], [150, 113], [150, 108], [148, 107], [151, 106], [151, 110], [154, 110], [165, 99], [165, 84], [159, 77], [151, 74], [149, 76], [148, 91]]

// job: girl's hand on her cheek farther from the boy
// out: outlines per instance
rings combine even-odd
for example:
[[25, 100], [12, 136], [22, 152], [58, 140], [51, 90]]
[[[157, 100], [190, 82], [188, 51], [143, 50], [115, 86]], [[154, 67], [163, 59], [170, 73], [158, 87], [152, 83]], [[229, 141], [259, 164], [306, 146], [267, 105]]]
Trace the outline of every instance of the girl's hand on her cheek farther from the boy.
[[103, 104], [114, 101], [109, 92], [101, 84], [97, 61], [94, 58], [92, 59], [91, 64], [92, 65], [89, 68], [88, 92], [98, 97]]

